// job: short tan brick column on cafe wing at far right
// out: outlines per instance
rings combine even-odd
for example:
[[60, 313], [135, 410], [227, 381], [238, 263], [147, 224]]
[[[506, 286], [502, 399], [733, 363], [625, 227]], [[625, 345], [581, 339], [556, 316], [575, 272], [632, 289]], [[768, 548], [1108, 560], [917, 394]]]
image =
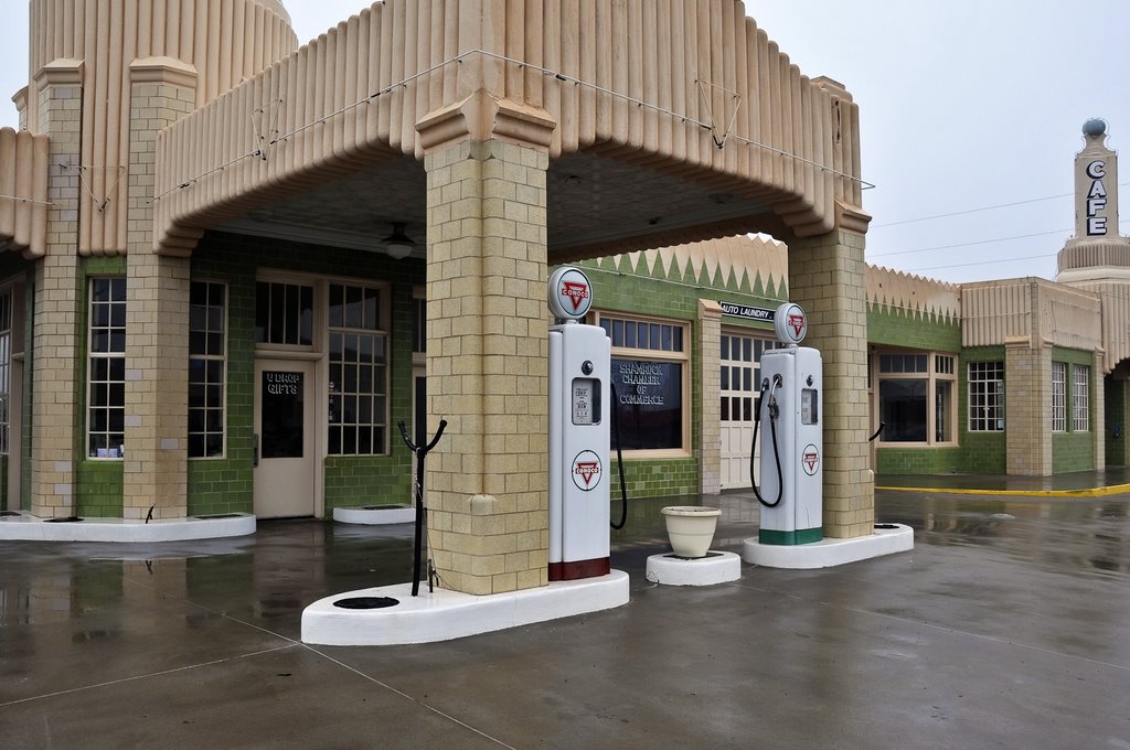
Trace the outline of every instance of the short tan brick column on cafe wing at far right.
[[1052, 345], [1031, 337], [1005, 339], [1005, 471], [1052, 473]]

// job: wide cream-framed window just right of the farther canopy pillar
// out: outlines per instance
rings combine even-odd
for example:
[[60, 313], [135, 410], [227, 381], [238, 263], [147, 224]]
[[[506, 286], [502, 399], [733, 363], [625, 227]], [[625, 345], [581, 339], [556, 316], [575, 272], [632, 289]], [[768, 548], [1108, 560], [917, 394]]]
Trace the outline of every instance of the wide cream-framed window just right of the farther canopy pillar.
[[[948, 354], [881, 351], [878, 407], [883, 443], [951, 443], [955, 361]], [[931, 408], [932, 405], [932, 408]]]

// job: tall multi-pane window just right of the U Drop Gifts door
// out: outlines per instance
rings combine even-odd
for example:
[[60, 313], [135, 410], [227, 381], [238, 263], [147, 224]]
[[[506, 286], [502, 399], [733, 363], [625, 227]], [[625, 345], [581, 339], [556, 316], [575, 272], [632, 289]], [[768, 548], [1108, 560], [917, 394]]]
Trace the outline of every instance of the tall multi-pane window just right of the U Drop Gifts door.
[[388, 332], [382, 290], [329, 286], [329, 453], [388, 450]]

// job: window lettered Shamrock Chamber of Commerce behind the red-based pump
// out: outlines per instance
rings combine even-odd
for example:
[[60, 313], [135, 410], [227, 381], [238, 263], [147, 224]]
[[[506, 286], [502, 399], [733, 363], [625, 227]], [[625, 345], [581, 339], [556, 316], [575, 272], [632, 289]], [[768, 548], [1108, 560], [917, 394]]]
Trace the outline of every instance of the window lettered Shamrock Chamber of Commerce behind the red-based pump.
[[598, 315], [612, 343], [612, 402], [625, 451], [686, 451], [689, 361], [687, 324], [660, 319]]

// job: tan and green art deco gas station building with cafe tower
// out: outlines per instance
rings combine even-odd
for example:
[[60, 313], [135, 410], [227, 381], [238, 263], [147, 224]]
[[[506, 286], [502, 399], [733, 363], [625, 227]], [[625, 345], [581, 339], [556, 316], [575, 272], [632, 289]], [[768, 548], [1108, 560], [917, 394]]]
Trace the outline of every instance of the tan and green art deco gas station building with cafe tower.
[[858, 106], [737, 0], [386, 0], [302, 47], [278, 0], [31, 9], [0, 130], [11, 513], [403, 503], [397, 425], [443, 418], [444, 582], [542, 586], [565, 263], [611, 338], [632, 496], [748, 487], [785, 299], [824, 359], [826, 537], [872, 532], [872, 469], [1130, 462], [1130, 246], [1089, 123], [1059, 279], [955, 287], [866, 265]]

